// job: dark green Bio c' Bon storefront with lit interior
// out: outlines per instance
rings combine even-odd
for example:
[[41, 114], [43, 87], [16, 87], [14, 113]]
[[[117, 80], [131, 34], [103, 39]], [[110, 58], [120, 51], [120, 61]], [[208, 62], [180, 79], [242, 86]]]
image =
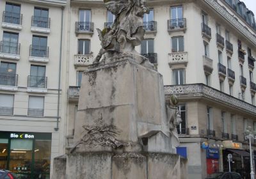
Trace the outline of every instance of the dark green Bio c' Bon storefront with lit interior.
[[0, 169], [24, 179], [50, 178], [51, 133], [0, 132]]

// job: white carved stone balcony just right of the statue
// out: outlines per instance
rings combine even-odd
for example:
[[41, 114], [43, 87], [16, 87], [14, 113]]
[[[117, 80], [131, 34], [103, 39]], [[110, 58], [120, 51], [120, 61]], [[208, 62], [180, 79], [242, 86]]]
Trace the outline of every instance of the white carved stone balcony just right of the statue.
[[178, 68], [181, 66], [187, 66], [188, 64], [188, 52], [172, 52], [169, 54], [169, 66], [173, 68], [173, 66], [177, 66]]

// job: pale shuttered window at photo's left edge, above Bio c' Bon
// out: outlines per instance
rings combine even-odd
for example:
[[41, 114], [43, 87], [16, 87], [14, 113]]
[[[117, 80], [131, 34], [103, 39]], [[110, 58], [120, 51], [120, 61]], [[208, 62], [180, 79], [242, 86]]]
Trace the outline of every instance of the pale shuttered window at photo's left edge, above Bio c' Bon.
[[14, 95], [0, 94], [0, 114], [13, 114]]

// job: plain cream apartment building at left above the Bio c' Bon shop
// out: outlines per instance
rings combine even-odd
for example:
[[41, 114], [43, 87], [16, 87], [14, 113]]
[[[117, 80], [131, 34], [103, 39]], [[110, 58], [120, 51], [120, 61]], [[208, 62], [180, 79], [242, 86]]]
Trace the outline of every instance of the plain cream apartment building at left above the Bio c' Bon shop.
[[67, 1], [0, 1], [0, 168], [50, 178], [65, 150], [61, 18]]

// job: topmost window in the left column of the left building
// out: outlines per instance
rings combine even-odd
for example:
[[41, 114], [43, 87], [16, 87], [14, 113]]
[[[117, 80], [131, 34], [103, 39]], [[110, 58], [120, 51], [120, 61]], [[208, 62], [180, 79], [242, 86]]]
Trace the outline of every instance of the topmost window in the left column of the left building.
[[5, 4], [4, 22], [20, 24], [20, 5], [13, 3]]

